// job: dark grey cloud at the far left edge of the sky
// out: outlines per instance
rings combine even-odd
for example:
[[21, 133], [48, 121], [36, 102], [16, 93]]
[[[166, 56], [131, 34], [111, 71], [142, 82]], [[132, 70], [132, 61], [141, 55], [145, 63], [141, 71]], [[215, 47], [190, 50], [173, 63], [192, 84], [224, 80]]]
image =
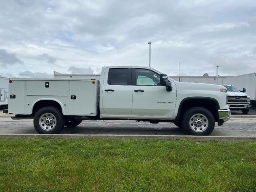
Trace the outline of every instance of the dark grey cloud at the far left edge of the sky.
[[0, 64], [3, 67], [7, 67], [8, 65], [14, 65], [14, 64], [22, 64], [23, 61], [20, 60], [16, 54], [14, 53], [8, 53], [4, 49], [0, 49]]

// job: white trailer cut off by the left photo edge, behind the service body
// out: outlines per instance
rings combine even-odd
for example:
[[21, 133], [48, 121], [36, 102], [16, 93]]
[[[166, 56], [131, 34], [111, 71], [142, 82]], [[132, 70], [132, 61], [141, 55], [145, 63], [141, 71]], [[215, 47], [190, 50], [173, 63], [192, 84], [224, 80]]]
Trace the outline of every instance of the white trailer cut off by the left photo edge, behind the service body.
[[8, 96], [9, 96], [9, 78], [0, 77], [0, 107], [8, 105]]

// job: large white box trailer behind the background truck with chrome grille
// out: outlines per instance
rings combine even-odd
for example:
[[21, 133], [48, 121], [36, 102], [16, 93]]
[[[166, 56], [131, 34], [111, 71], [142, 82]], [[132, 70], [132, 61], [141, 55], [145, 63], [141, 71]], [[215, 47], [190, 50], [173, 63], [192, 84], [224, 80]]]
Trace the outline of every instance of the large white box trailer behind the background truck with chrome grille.
[[223, 84], [234, 85], [239, 90], [246, 88], [246, 94], [250, 96], [252, 105], [256, 105], [256, 73], [223, 78]]

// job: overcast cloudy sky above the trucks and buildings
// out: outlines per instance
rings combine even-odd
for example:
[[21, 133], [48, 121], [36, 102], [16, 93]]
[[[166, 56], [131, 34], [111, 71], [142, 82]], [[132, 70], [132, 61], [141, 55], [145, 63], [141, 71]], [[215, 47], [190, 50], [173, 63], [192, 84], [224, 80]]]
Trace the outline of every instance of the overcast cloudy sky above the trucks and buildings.
[[255, 0], [0, 0], [0, 75], [99, 74], [148, 66], [168, 75], [256, 72]]

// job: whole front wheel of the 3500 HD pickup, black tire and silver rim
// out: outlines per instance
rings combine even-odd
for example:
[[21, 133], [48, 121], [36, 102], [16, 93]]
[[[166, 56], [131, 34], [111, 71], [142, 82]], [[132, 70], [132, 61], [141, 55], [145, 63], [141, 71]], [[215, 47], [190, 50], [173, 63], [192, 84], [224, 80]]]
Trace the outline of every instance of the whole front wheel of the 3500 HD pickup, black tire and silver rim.
[[[196, 115], [196, 114], [201, 114], [201, 115]], [[192, 118], [192, 116], [194, 116], [194, 115], [196, 115], [196, 117], [194, 117], [194, 121], [190, 122], [190, 118]], [[197, 116], [198, 116], [198, 118], [197, 118]], [[200, 121], [201, 127], [195, 126], [196, 120], [198, 120], [198, 119]], [[206, 122], [204, 122], [204, 120], [206, 120], [206, 122], [208, 122], [208, 126], [206, 125]], [[198, 123], [198, 121], [197, 121], [197, 123]], [[192, 127], [194, 126], [194, 128], [191, 128], [190, 125]], [[198, 126], [200, 126], [200, 125], [198, 124]], [[204, 127], [204, 125], [205, 125], [205, 127]], [[214, 130], [214, 126], [215, 126], [214, 116], [206, 108], [193, 107], [193, 108], [188, 109], [182, 116], [182, 127], [186, 131], [186, 133], [189, 135], [198, 135], [198, 136], [210, 135], [212, 133], [212, 131]]]

